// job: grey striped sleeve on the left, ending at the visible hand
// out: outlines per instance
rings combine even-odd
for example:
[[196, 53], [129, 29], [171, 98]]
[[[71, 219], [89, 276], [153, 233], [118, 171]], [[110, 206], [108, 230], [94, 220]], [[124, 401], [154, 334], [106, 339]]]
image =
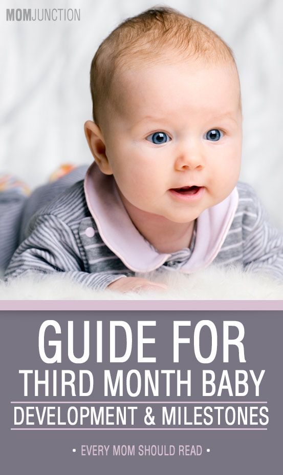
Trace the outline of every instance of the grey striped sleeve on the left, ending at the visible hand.
[[39, 215], [34, 220], [32, 232], [14, 253], [5, 279], [31, 271], [64, 272], [74, 281], [97, 290], [126, 276], [118, 272], [86, 272], [72, 230], [52, 214]]

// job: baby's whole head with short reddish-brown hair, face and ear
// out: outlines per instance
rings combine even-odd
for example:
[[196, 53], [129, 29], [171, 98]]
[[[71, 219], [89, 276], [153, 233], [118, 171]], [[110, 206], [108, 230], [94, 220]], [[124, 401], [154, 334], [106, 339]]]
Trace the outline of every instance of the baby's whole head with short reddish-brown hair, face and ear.
[[130, 215], [190, 222], [235, 187], [240, 83], [230, 48], [206, 26], [169, 8], [127, 19], [94, 56], [91, 92], [86, 137]]

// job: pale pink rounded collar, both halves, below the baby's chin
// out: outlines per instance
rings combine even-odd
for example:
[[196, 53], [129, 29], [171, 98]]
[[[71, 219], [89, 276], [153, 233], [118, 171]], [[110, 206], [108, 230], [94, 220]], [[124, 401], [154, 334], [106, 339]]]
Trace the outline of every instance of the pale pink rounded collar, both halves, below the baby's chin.
[[[161, 254], [133, 225], [120, 199], [113, 175], [104, 175], [93, 163], [84, 179], [86, 203], [101, 239], [125, 266], [134, 272], [158, 269], [171, 254]], [[206, 209], [197, 222], [197, 236], [190, 259], [180, 269], [192, 273], [207, 267], [225, 240], [238, 206], [237, 189], [221, 203]]]

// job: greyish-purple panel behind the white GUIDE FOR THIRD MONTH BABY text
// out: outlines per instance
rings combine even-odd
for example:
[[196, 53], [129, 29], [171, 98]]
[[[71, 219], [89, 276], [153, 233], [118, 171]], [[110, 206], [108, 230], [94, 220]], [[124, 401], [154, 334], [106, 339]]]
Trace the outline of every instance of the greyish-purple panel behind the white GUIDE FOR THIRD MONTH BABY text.
[[[62, 337], [59, 335], [53, 339], [62, 339], [63, 358], [61, 365], [43, 364], [38, 355], [38, 330], [41, 323], [47, 319], [57, 320], [62, 329]], [[200, 372], [203, 366], [206, 369], [213, 369], [216, 372], [228, 369], [229, 374], [235, 368], [254, 369], [256, 374], [261, 369], [266, 370], [266, 374], [260, 385], [259, 398], [254, 397], [251, 390], [245, 398], [239, 399], [242, 404], [244, 400], [268, 401], [270, 422], [267, 431], [11, 431], [13, 421], [13, 406], [10, 401], [23, 401], [23, 384], [19, 377], [19, 369], [73, 369], [74, 365], [66, 358], [66, 328], [67, 321], [74, 320], [75, 325], [75, 345], [79, 354], [81, 345], [81, 334], [79, 329], [82, 320], [90, 320], [91, 328], [96, 320], [103, 320], [103, 325], [107, 328], [108, 320], [125, 320], [136, 334], [137, 320], [157, 320], [156, 330], [145, 334], [151, 337], [154, 333], [156, 337], [156, 347], [150, 348], [150, 355], [157, 355], [157, 364], [137, 364], [136, 351], [131, 359], [122, 366], [126, 371], [129, 368], [142, 369], [153, 367], [159, 369], [169, 369], [175, 366], [179, 369], [191, 369], [192, 373]], [[209, 365], [200, 365], [193, 356], [192, 345], [184, 348], [180, 352], [180, 364], [170, 364], [172, 357], [172, 321], [191, 320], [191, 328], [202, 320], [212, 320], [219, 331], [219, 352], [215, 361]], [[245, 356], [247, 363], [239, 364], [237, 352], [231, 351], [229, 364], [222, 363], [221, 328], [223, 320], [239, 320], [245, 326]], [[154, 327], [152, 327], [154, 329]], [[188, 330], [188, 328], [187, 328]], [[68, 473], [75, 475], [81, 473], [89, 475], [94, 473], [160, 473], [169, 475], [174, 473], [193, 473], [203, 475], [238, 475], [240, 473], [253, 473], [266, 475], [266, 473], [277, 474], [281, 470], [281, 427], [282, 410], [281, 394], [283, 390], [281, 378], [282, 346], [281, 335], [283, 331], [282, 312], [248, 311], [248, 312], [213, 312], [213, 311], [167, 311], [167, 312], [5, 312], [0, 314], [0, 365], [1, 365], [1, 406], [0, 406], [0, 438], [1, 438], [1, 458], [0, 471], [5, 475], [47, 475], [50, 473]], [[192, 331], [187, 333], [192, 334]], [[186, 336], [187, 336], [186, 333]], [[95, 330], [91, 332], [92, 342]], [[104, 357], [108, 352], [107, 333], [105, 331], [103, 342], [106, 345]], [[50, 335], [51, 337], [51, 335]], [[134, 348], [136, 342], [134, 338]], [[150, 346], [150, 345], [149, 345]], [[185, 348], [186, 347], [186, 348]], [[118, 346], [118, 351], [121, 349]], [[101, 372], [104, 368], [109, 368], [106, 359], [102, 364], [96, 364], [94, 357], [95, 348], [91, 351], [91, 359], [83, 367]], [[181, 354], [182, 353], [182, 354]], [[188, 354], [188, 360], [185, 355]], [[81, 366], [81, 365], [80, 365]], [[113, 366], [113, 365], [112, 365]], [[101, 388], [97, 388], [96, 395], [101, 395]], [[193, 391], [193, 401], [200, 400], [200, 393]], [[36, 398], [30, 395], [29, 401]], [[46, 398], [47, 399], [47, 398]], [[49, 398], [53, 399], [53, 398]], [[57, 398], [62, 400], [62, 398]], [[78, 399], [78, 398], [76, 398]], [[87, 398], [83, 398], [85, 401]], [[118, 399], [118, 398], [115, 398]], [[123, 398], [129, 399], [128, 397]], [[134, 398], [133, 398], [134, 399]], [[139, 398], [144, 399], [144, 398]], [[169, 399], [169, 398], [168, 398]], [[203, 399], [203, 398], [201, 398]], [[207, 400], [210, 398], [207, 398]], [[43, 401], [42, 396], [38, 400]], [[70, 400], [70, 397], [68, 398]], [[164, 398], [162, 399], [164, 400]], [[215, 400], [215, 398], [213, 399]], [[227, 401], [227, 395], [219, 398]], [[134, 401], [133, 401], [134, 402]], [[203, 456], [201, 457], [81, 457], [79, 449], [81, 444], [200, 444], [203, 446]], [[77, 452], [73, 453], [72, 449]], [[210, 452], [206, 452], [210, 448]]]

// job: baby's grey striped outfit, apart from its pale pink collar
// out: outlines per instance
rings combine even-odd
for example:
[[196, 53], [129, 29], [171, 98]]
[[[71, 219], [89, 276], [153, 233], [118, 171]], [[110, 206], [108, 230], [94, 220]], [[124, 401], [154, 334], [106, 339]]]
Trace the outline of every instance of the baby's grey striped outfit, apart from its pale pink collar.
[[[190, 248], [172, 254], [159, 254], [136, 228], [131, 229], [131, 232], [139, 234], [137, 239], [140, 240], [144, 252], [152, 254], [155, 264], [151, 267], [147, 265], [144, 268], [141, 264], [141, 267], [136, 269], [132, 264], [128, 264], [127, 256], [121, 255], [120, 251], [117, 251], [117, 255], [107, 239], [104, 238], [107, 245], [102, 240], [103, 232], [98, 230], [100, 224], [95, 221], [93, 212], [86, 202], [83, 181], [76, 182], [84, 173], [85, 167], [80, 167], [56, 183], [41, 187], [24, 204], [20, 204], [20, 211], [17, 213], [12, 212], [10, 208], [10, 217], [16, 216], [14, 220], [16, 240], [21, 243], [6, 270], [6, 278], [31, 270], [41, 273], [64, 272], [64, 275], [71, 276], [76, 282], [94, 289], [104, 289], [120, 276], [133, 276], [137, 273], [140, 275], [155, 269], [180, 270], [186, 273], [198, 270], [198, 266], [190, 268], [190, 262], [193, 261], [194, 253], [200, 248], [198, 244], [200, 231], [202, 234], [204, 232], [204, 228], [199, 226], [199, 219]], [[76, 183], [70, 186], [72, 182]], [[240, 264], [243, 269], [253, 271], [267, 271], [283, 281], [283, 234], [268, 223], [265, 211], [250, 186], [238, 183], [237, 193], [237, 207], [232, 220], [227, 230], [223, 232], [223, 242], [219, 244], [219, 248], [214, 246], [213, 252], [214, 254], [216, 252], [216, 255], [210, 253], [210, 261], [225, 266]], [[54, 196], [55, 199], [50, 202]], [[43, 203], [45, 206], [41, 207]], [[38, 208], [40, 210], [35, 212]], [[4, 209], [4, 200], [1, 200], [0, 196], [1, 209]], [[21, 226], [18, 224], [19, 219]], [[10, 219], [10, 223], [12, 221]], [[27, 221], [29, 224], [25, 227]], [[11, 224], [9, 226], [9, 232], [12, 232], [14, 239]], [[133, 225], [132, 227], [134, 228]], [[3, 221], [3, 214], [0, 215], [0, 229], [1, 247], [2, 251], [5, 250], [2, 262], [7, 263], [10, 259], [9, 253], [7, 254], [9, 246], [6, 245], [9, 236], [7, 232], [5, 234], [7, 227]], [[122, 221], [116, 223], [116, 229], [117, 234], [126, 242], [127, 229]], [[212, 237], [207, 227], [207, 240], [210, 239], [212, 240]], [[202, 235], [202, 240], [205, 242], [206, 236]], [[133, 246], [133, 241], [129, 239], [127, 245]], [[210, 262], [206, 260], [203, 267], [208, 263]], [[199, 268], [201, 267], [202, 264]]]

